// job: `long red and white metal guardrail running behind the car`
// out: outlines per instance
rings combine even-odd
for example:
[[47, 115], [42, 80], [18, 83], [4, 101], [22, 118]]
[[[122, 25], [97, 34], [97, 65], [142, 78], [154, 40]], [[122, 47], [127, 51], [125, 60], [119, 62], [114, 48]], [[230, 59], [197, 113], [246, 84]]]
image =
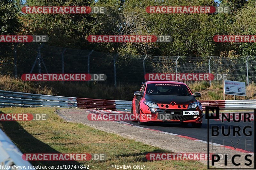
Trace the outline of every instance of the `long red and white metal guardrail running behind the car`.
[[[256, 108], [256, 100], [208, 100], [200, 101], [205, 106], [221, 108]], [[0, 107], [79, 107], [86, 109], [108, 109], [131, 111], [132, 101], [102, 100], [76, 97], [50, 96], [0, 90]]]

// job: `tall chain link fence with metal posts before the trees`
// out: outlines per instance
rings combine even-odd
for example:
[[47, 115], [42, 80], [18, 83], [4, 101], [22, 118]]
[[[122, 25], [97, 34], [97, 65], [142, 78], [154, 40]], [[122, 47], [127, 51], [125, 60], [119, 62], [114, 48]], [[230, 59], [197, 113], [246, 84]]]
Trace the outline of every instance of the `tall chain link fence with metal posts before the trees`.
[[[2, 74], [103, 73], [105, 83], [141, 83], [146, 73], [227, 74], [228, 80], [254, 83], [256, 57], [189, 57], [120, 55], [93, 50], [60, 48], [35, 43], [15, 45], [13, 57], [0, 58]], [[222, 83], [222, 79], [212, 80]], [[210, 82], [211, 83], [211, 82]]]

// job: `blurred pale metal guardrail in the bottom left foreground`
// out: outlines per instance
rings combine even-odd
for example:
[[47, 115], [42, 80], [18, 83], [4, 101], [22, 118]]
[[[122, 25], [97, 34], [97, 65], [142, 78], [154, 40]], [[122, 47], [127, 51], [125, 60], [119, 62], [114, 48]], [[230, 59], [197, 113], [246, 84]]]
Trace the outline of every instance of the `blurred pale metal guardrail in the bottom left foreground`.
[[[25, 170], [24, 166], [32, 166], [28, 161], [22, 159], [22, 153], [12, 141], [0, 129], [0, 169]], [[23, 166], [23, 167], [22, 167]], [[12, 167], [12, 168], [11, 168]]]

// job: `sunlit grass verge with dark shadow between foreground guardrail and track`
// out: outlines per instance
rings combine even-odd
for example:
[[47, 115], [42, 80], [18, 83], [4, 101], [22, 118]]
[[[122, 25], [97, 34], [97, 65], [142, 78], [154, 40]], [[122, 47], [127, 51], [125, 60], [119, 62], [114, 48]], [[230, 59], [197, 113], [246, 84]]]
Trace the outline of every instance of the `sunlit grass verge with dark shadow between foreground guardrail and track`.
[[4, 108], [4, 113], [44, 113], [46, 121], [1, 122], [0, 127], [23, 153], [105, 153], [106, 161], [31, 161], [33, 165], [90, 165], [90, 169], [110, 169], [110, 165], [146, 165], [146, 169], [206, 169], [198, 161], [148, 161], [149, 152], [169, 152], [154, 146], [106, 133], [80, 123], [62, 120], [54, 108]]

